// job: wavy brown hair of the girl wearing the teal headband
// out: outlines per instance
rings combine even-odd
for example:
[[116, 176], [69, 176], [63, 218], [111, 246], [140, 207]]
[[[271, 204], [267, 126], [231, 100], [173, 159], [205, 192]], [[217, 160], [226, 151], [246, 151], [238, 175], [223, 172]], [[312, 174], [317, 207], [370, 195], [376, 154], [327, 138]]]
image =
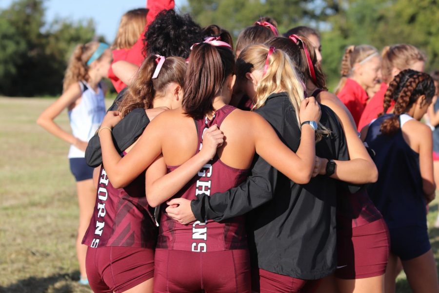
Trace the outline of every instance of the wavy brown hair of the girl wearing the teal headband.
[[79, 81], [88, 82], [88, 66], [87, 61], [96, 51], [99, 42], [88, 42], [86, 44], [79, 44], [70, 57], [67, 69], [64, 74], [64, 81], [62, 83], [62, 91]]

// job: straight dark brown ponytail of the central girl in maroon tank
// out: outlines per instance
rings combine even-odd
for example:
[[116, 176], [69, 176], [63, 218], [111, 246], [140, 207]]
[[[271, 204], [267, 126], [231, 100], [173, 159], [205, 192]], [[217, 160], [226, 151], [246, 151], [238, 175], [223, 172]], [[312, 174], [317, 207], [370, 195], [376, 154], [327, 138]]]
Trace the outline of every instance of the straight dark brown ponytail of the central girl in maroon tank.
[[235, 73], [235, 57], [228, 47], [202, 42], [193, 47], [189, 60], [182, 106], [188, 116], [201, 119], [213, 110], [213, 98]]

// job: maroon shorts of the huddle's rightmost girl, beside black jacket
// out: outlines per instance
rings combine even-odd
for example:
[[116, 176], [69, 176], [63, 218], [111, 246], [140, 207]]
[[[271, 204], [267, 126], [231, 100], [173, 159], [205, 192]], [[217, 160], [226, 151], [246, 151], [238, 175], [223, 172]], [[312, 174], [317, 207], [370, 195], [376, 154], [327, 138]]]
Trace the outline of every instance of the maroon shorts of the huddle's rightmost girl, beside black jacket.
[[389, 230], [383, 219], [337, 230], [337, 270], [340, 279], [362, 279], [382, 275], [389, 257]]

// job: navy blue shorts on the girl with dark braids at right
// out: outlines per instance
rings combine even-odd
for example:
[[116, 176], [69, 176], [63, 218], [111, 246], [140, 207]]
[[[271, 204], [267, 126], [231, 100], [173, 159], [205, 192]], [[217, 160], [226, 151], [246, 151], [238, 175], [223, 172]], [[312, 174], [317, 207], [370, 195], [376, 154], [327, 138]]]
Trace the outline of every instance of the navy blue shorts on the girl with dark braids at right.
[[427, 226], [389, 228], [390, 251], [401, 260], [421, 256], [431, 249]]

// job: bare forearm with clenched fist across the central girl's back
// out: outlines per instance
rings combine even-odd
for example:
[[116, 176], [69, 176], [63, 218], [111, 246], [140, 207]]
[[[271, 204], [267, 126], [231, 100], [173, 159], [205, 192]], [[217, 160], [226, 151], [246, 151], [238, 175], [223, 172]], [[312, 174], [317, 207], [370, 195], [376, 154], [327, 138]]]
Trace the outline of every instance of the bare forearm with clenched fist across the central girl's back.
[[223, 143], [221, 130], [211, 126], [203, 134], [203, 146], [195, 156], [174, 171], [166, 174], [166, 164], [160, 156], [146, 170], [146, 198], [151, 207], [157, 207], [180, 191], [215, 156]]

